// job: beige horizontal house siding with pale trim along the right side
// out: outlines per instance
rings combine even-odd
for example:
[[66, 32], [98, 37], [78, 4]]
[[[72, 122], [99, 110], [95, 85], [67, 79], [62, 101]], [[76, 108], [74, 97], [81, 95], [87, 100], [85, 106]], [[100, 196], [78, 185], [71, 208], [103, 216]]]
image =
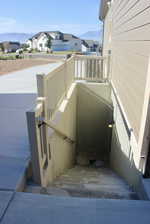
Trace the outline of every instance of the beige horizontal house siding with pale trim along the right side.
[[[115, 121], [119, 142], [128, 145], [130, 155], [120, 147], [129, 162], [122, 170], [122, 176], [132, 164], [143, 174], [147, 160], [150, 128], [150, 2], [147, 0], [113, 0], [104, 20], [103, 55], [110, 54], [110, 82], [119, 101], [129, 131], [129, 142], [120, 135], [124, 122]], [[114, 99], [114, 98], [113, 98]], [[121, 105], [121, 106], [120, 106]], [[122, 133], [122, 132], [121, 132]], [[112, 139], [113, 141], [114, 139]], [[122, 144], [122, 145], [123, 145]], [[112, 151], [113, 150], [112, 144]], [[112, 153], [113, 156], [113, 153]], [[113, 159], [112, 159], [113, 161]], [[115, 168], [123, 161], [117, 158]], [[114, 164], [113, 164], [114, 167]], [[131, 183], [132, 184], [132, 183]]]

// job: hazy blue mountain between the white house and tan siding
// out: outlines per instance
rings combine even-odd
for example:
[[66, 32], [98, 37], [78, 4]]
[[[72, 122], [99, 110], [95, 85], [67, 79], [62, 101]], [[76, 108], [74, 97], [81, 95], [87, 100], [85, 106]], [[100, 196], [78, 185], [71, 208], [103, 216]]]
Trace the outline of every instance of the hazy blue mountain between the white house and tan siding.
[[88, 31], [80, 36], [84, 40], [102, 40], [103, 31]]

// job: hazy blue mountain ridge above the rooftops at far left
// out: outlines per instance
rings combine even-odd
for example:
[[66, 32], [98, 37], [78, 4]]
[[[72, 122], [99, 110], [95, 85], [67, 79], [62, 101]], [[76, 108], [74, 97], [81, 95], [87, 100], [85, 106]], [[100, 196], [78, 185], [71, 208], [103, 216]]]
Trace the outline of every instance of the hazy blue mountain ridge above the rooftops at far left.
[[33, 35], [34, 34], [31, 34], [31, 33], [0, 33], [0, 42], [17, 41], [20, 43], [24, 43]]

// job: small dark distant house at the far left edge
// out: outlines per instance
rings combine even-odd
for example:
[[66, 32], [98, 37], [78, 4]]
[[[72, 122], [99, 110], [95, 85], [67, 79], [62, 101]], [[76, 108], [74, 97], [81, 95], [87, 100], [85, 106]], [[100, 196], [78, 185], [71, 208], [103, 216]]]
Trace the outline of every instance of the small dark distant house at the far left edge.
[[16, 52], [20, 48], [19, 42], [6, 41], [1, 43], [2, 49], [5, 53]]

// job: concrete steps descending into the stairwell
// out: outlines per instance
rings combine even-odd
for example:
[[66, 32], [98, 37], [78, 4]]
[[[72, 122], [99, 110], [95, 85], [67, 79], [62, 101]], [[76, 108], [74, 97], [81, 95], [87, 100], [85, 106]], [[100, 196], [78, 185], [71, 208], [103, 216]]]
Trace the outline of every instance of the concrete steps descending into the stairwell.
[[31, 184], [25, 191], [65, 197], [138, 199], [128, 184], [108, 167], [75, 166], [47, 188]]

